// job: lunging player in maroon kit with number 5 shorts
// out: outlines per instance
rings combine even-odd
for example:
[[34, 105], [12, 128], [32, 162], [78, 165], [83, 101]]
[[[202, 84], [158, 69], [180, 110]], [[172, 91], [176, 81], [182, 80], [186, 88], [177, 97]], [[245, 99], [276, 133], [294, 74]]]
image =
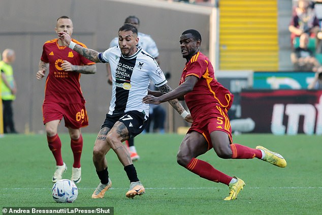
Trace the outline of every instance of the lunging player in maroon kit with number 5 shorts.
[[197, 159], [211, 148], [223, 159], [258, 158], [278, 167], [285, 167], [286, 161], [278, 153], [263, 146], [255, 149], [233, 143], [232, 129], [228, 117], [234, 96], [215, 78], [214, 69], [200, 50], [201, 35], [189, 29], [180, 37], [183, 58], [187, 60], [179, 86], [167, 94], [148, 95], [143, 102], [159, 104], [172, 99], [185, 100], [194, 122], [180, 145], [177, 162], [189, 171], [214, 182], [229, 186], [229, 196], [224, 200], [237, 198], [245, 183], [235, 176], [226, 175], [209, 163]]

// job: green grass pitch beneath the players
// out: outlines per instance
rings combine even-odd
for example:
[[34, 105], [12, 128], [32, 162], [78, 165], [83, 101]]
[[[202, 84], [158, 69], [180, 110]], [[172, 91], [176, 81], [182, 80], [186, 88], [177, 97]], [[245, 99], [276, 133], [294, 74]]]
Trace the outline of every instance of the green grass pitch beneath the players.
[[[242, 178], [246, 186], [234, 201], [224, 201], [228, 187], [189, 172], [176, 163], [183, 135], [144, 134], [135, 139], [141, 159], [135, 162], [146, 193], [127, 199], [129, 186], [122, 165], [107, 155], [112, 188], [103, 199], [91, 199], [99, 183], [92, 163], [96, 134], [83, 134], [82, 181], [71, 204], [54, 202], [51, 177], [55, 163], [45, 135], [0, 138], [0, 202], [6, 206], [114, 207], [114, 214], [322, 214], [321, 136], [237, 135], [234, 142], [263, 145], [281, 153], [286, 168], [258, 159], [223, 160], [213, 150], [199, 157], [216, 169]], [[71, 177], [73, 156], [68, 134], [60, 134], [62, 156]]]

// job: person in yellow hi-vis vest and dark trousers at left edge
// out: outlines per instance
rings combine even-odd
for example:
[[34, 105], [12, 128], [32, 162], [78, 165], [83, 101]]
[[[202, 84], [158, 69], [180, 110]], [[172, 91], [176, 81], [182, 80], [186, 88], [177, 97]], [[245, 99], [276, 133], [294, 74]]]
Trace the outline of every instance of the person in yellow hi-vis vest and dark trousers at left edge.
[[16, 99], [17, 86], [13, 76], [12, 64], [16, 60], [15, 51], [5, 49], [2, 53], [3, 60], [0, 62], [1, 72], [1, 99], [3, 103], [4, 133], [16, 134], [13, 120], [12, 103]]

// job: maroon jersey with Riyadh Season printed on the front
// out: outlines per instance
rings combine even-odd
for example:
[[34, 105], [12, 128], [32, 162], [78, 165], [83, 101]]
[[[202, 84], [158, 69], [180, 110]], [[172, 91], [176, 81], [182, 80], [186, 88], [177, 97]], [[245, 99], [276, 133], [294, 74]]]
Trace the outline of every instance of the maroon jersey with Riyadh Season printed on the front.
[[[74, 39], [72, 41], [87, 48], [85, 44]], [[45, 87], [45, 102], [63, 104], [85, 103], [79, 83], [81, 74], [73, 71], [64, 71], [60, 66], [64, 60], [77, 66], [95, 63], [66, 46], [59, 46], [58, 39], [47, 41], [43, 45], [41, 60], [49, 63], [49, 74]]]

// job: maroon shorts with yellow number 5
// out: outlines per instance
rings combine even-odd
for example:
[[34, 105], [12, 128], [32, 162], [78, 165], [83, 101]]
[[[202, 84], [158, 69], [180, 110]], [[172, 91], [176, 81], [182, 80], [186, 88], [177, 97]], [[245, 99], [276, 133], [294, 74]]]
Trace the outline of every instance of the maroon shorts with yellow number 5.
[[213, 131], [222, 131], [228, 134], [230, 142], [233, 143], [232, 127], [226, 110], [220, 106], [215, 106], [202, 114], [192, 122], [188, 133], [196, 131], [201, 133], [208, 142], [208, 150], [212, 148], [210, 133]]

